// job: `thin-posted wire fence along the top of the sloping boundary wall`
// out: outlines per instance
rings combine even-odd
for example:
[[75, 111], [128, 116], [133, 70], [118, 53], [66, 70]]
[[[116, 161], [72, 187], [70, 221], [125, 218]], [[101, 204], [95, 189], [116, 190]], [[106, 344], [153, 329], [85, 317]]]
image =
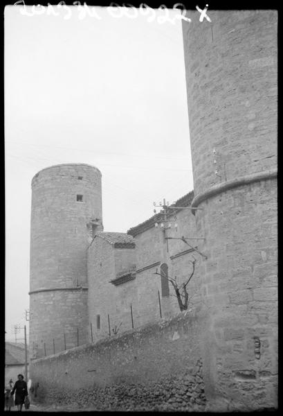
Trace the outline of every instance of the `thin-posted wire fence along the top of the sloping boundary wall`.
[[[161, 296], [158, 291], [156, 301], [158, 304], [156, 311], [152, 310], [152, 318], [162, 318], [161, 308]], [[53, 338], [44, 338], [37, 342], [33, 340], [30, 345], [30, 358], [43, 358], [45, 356], [51, 356], [59, 352], [67, 351], [86, 343], [95, 343], [97, 340], [105, 337], [115, 336], [118, 332], [126, 331], [128, 329], [134, 329], [138, 326], [137, 315], [135, 317], [134, 307], [132, 304], [129, 305], [128, 311], [123, 315], [111, 315], [107, 313], [107, 317], [104, 315], [104, 324], [101, 326], [100, 315], [96, 315], [96, 322], [89, 323], [89, 328], [65, 328], [62, 333], [57, 333]], [[147, 315], [149, 311], [147, 311]], [[120, 322], [122, 320], [122, 322]], [[118, 322], [118, 323], [117, 323]], [[143, 324], [152, 322], [152, 320], [143, 320]]]

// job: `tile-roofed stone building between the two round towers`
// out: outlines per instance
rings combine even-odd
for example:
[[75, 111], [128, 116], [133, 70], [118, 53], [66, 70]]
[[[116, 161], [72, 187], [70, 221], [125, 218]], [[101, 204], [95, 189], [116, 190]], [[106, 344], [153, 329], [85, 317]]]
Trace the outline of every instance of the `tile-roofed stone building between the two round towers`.
[[[188, 207], [192, 198], [190, 192], [175, 205]], [[181, 286], [190, 277], [194, 258], [197, 262], [188, 293], [189, 306], [197, 306], [201, 255], [193, 248], [201, 236], [197, 236], [190, 209], [171, 207], [167, 224], [163, 214], [156, 214], [127, 234], [98, 232], [93, 239], [88, 249], [89, 330], [93, 340], [180, 311], [174, 288], [160, 276], [161, 270], [167, 268], [167, 276], [176, 276]], [[192, 239], [188, 240], [192, 247], [181, 241], [182, 236]]]

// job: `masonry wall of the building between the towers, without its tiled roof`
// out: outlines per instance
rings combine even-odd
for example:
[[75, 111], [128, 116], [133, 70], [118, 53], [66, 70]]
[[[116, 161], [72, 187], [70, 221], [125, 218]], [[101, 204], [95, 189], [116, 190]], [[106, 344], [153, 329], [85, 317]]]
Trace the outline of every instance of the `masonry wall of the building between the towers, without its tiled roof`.
[[[196, 228], [196, 219], [189, 210], [176, 213], [174, 227], [172, 216], [172, 229], [167, 236], [174, 238], [185, 236], [199, 237]], [[200, 236], [201, 237], [201, 236]], [[163, 231], [152, 227], [134, 237], [136, 249], [113, 248], [113, 245], [103, 239], [95, 238], [88, 250], [89, 270], [89, 324], [92, 323], [93, 340], [98, 340], [109, 333], [108, 315], [111, 332], [115, 326], [119, 331], [131, 329], [132, 324], [138, 327], [147, 322], [156, 322], [161, 318], [180, 311], [174, 289], [169, 283], [170, 295], [162, 297], [161, 277], [154, 275], [156, 269], [160, 272], [162, 263], [167, 263], [168, 274], [177, 276], [181, 284], [188, 279], [192, 270], [192, 254], [197, 259], [194, 277], [188, 286], [190, 297], [189, 309], [199, 308], [201, 302], [199, 263], [201, 257], [197, 252], [186, 252], [190, 247], [178, 239], [168, 241], [168, 252], [164, 241]], [[189, 240], [190, 244], [197, 245], [199, 240]], [[185, 252], [185, 253], [184, 253]], [[172, 257], [172, 258], [171, 258]], [[155, 266], [152, 266], [155, 265]], [[109, 281], [116, 279], [120, 272], [133, 270], [136, 266], [135, 279], [126, 281], [118, 286]], [[150, 266], [150, 267], [147, 267]], [[158, 291], [161, 298], [161, 315], [158, 302]], [[133, 322], [131, 321], [131, 312]], [[96, 325], [96, 317], [100, 315], [100, 329]], [[89, 340], [91, 334], [89, 333]]]

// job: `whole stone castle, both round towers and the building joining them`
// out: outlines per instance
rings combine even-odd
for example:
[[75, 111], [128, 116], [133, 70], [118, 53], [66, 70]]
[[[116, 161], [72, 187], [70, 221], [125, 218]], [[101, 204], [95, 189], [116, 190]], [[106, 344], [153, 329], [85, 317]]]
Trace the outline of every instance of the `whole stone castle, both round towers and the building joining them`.
[[30, 354], [170, 318], [179, 306], [161, 270], [181, 284], [195, 259], [187, 313], [201, 316], [211, 409], [276, 408], [277, 12], [208, 14], [183, 21], [194, 191], [170, 207], [171, 227], [163, 212], [103, 232], [92, 166], [33, 179]]

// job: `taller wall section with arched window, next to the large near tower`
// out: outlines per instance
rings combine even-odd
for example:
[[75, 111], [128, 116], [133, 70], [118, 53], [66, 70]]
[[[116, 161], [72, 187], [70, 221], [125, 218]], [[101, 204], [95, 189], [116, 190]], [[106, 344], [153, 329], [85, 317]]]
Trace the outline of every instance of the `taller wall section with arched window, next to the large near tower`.
[[[172, 220], [171, 229], [167, 230], [167, 236], [173, 237], [167, 244], [164, 240], [164, 234], [161, 228], [152, 227], [145, 232], [134, 236], [136, 241], [136, 257], [137, 257], [137, 269], [143, 268], [151, 263], [167, 263], [168, 275], [170, 277], [177, 277], [179, 284], [188, 279], [192, 270], [192, 255], [197, 259], [196, 270], [194, 277], [190, 281], [188, 286], [188, 293], [190, 295], [190, 307], [196, 308], [199, 304], [199, 291], [200, 291], [200, 279], [199, 279], [199, 264], [201, 263], [201, 256], [197, 252], [186, 252], [190, 250], [190, 247], [180, 240], [181, 236], [185, 238], [199, 238], [202, 237], [197, 232], [196, 218], [192, 216], [190, 210], [183, 209], [176, 213], [175, 216], [170, 216]], [[178, 227], [175, 228], [174, 224], [177, 223]], [[199, 240], [188, 240], [188, 243], [192, 246], [199, 245]], [[186, 253], [184, 253], [186, 252]], [[179, 255], [181, 254], [181, 255]], [[177, 256], [177, 257], [175, 257]], [[172, 314], [179, 311], [179, 305], [175, 297], [174, 288], [169, 283], [170, 295], [162, 297], [161, 295], [161, 277], [154, 275], [154, 272], [158, 269], [160, 272], [160, 265], [154, 266], [137, 273], [137, 290], [138, 290], [138, 318], [139, 323], [150, 322], [160, 317], [159, 305], [158, 305], [158, 291], [161, 296], [161, 309], [163, 317], [169, 318]], [[192, 295], [194, 295], [192, 297]]]

